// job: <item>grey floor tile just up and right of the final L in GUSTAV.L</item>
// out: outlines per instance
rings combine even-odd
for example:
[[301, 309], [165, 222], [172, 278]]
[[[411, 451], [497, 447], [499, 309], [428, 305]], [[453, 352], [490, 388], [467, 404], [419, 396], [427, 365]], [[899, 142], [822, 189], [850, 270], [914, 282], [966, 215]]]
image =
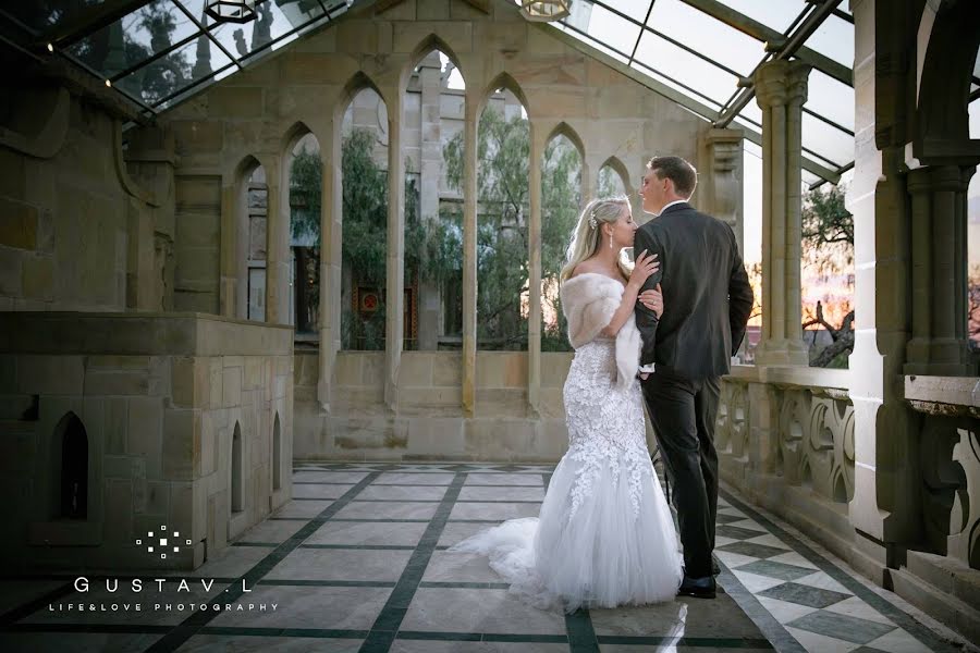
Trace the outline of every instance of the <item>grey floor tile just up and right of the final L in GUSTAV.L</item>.
[[373, 580], [395, 582], [411, 551], [297, 549], [264, 580]]

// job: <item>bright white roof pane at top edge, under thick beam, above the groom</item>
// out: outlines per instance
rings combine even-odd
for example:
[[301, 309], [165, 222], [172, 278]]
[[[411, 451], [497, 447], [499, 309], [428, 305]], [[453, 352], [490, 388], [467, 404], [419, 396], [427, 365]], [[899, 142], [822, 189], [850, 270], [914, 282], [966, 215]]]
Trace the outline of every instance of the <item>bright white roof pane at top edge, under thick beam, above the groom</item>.
[[761, 41], [679, 0], [657, 0], [647, 25], [740, 75], [750, 74], [765, 54]]

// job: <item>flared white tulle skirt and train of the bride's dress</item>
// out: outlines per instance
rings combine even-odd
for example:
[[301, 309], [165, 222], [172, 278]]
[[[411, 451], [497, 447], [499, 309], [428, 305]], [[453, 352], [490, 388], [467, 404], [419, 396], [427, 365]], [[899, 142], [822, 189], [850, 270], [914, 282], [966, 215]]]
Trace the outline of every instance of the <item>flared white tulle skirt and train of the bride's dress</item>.
[[672, 601], [682, 558], [649, 457], [607, 452], [597, 464], [580, 454], [559, 463], [538, 518], [505, 521], [450, 551], [488, 555], [511, 591], [542, 609]]

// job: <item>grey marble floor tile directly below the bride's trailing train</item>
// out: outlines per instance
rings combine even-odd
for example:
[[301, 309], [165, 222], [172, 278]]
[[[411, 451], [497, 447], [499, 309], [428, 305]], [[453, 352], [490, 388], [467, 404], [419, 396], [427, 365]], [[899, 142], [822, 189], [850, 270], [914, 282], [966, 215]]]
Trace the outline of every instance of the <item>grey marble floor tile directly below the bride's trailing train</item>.
[[530, 609], [507, 590], [419, 588], [401, 630], [565, 634], [565, 618]]

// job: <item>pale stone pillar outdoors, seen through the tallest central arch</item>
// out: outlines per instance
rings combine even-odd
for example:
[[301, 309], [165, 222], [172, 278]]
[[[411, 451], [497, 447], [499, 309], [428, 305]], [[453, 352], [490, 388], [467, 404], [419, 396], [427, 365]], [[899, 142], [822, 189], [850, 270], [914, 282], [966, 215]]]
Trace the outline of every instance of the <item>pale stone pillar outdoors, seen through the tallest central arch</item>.
[[[440, 106], [442, 72], [439, 56], [432, 53], [419, 64], [421, 85], [419, 195], [421, 224], [426, 232], [439, 220], [439, 181], [442, 178], [442, 141], [440, 138]], [[439, 285], [419, 270], [418, 280], [418, 348], [434, 350], [442, 334], [440, 323], [442, 297]]]

